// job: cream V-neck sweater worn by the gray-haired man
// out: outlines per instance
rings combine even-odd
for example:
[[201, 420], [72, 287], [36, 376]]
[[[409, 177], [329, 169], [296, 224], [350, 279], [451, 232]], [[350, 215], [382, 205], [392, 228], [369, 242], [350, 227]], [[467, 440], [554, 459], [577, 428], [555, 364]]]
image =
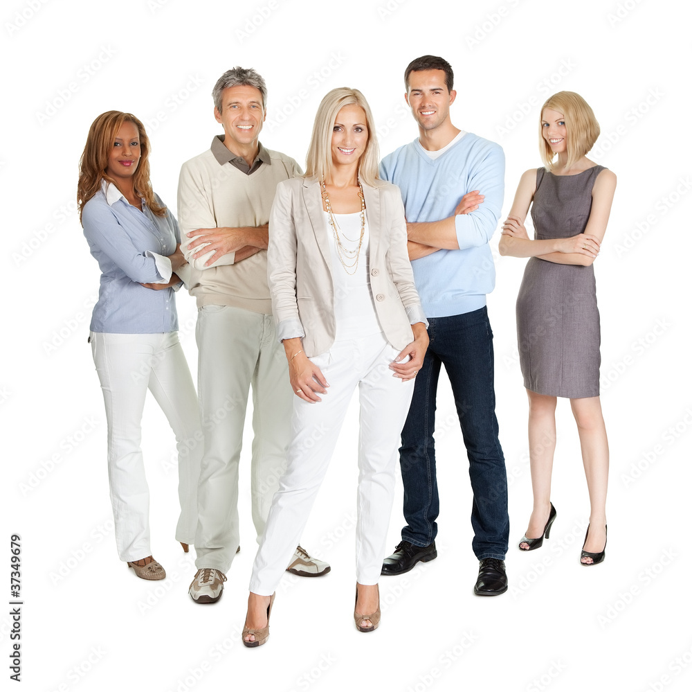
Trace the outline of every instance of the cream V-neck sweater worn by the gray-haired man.
[[235, 308], [271, 314], [266, 278], [266, 250], [241, 262], [226, 256], [223, 263], [201, 269], [208, 260], [192, 260], [197, 251], [188, 251], [186, 233], [200, 228], [262, 226], [269, 220], [277, 184], [300, 173], [300, 166], [285, 154], [267, 150], [271, 163], [251, 175], [232, 163], [223, 165], [211, 150], [183, 163], [178, 185], [178, 223], [183, 253], [190, 262], [188, 290], [203, 305], [231, 305]]

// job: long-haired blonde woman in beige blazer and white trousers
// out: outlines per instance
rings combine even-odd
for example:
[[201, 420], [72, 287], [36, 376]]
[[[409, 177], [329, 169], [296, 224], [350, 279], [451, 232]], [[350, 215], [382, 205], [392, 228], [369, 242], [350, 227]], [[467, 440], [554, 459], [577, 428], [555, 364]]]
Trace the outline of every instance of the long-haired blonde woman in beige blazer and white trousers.
[[[250, 583], [246, 646], [268, 638], [284, 553], [290, 556], [294, 535], [300, 537], [307, 523], [356, 387], [361, 420], [354, 620], [361, 632], [379, 625], [377, 584], [397, 450], [428, 334], [408, 260], [401, 195], [378, 177], [371, 123], [360, 91], [330, 91], [318, 108], [305, 176], [276, 190], [268, 279], [295, 398], [286, 473]], [[306, 623], [306, 631], [312, 628]]]

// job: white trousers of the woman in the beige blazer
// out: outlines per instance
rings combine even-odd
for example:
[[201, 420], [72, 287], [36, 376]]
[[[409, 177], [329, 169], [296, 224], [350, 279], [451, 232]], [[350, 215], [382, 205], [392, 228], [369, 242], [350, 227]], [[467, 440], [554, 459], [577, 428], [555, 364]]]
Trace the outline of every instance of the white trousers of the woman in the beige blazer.
[[300, 535], [329, 461], [343, 420], [358, 387], [361, 405], [358, 439], [356, 581], [379, 581], [392, 513], [401, 428], [415, 380], [394, 378], [389, 365], [399, 350], [383, 335], [341, 339], [327, 353], [311, 358], [329, 382], [322, 401], [293, 396], [288, 465], [274, 495], [250, 590], [270, 596], [276, 589]]

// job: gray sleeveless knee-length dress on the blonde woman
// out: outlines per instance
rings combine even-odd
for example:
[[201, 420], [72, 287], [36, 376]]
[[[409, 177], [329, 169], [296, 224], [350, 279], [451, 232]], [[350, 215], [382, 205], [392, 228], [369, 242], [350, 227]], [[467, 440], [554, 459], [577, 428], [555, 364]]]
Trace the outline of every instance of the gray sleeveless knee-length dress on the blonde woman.
[[[591, 190], [603, 168], [594, 166], [577, 175], [538, 169], [531, 206], [536, 240], [584, 232]], [[529, 258], [516, 316], [524, 387], [570, 399], [599, 396], [601, 324], [593, 266]]]

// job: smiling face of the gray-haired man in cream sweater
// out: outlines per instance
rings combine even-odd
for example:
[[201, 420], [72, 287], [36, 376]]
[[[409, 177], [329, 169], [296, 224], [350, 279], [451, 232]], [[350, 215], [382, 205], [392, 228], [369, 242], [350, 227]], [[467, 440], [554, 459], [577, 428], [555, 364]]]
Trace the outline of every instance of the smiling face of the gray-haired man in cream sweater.
[[242, 155], [248, 148], [257, 146], [266, 114], [262, 92], [256, 87], [238, 85], [228, 87], [221, 94], [221, 112], [214, 109], [217, 123], [224, 125], [226, 148]]

